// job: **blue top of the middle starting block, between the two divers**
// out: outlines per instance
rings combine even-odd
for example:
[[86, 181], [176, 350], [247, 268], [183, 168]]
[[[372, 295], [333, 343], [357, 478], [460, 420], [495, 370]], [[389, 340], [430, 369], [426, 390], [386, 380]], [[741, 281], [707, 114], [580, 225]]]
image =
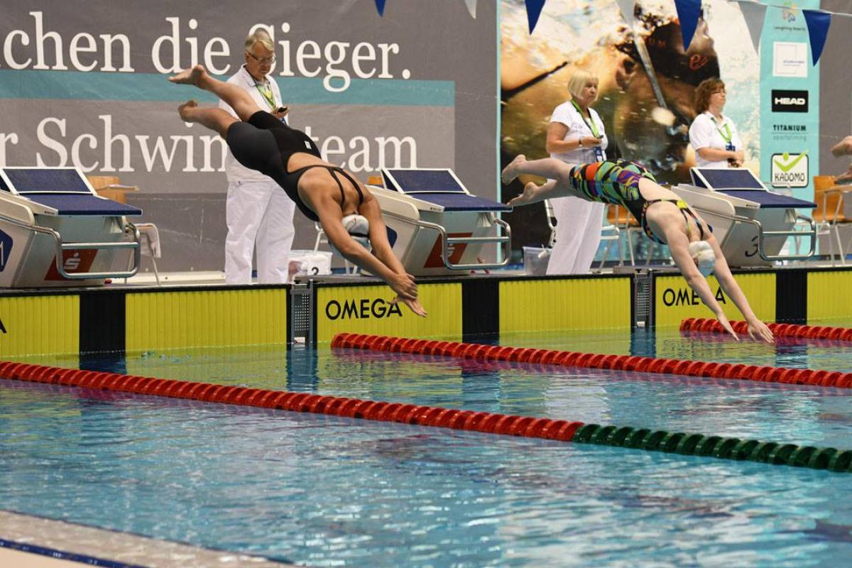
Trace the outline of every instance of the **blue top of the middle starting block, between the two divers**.
[[445, 211], [512, 210], [498, 201], [471, 195], [452, 169], [383, 169], [382, 177], [386, 189], [440, 205]]

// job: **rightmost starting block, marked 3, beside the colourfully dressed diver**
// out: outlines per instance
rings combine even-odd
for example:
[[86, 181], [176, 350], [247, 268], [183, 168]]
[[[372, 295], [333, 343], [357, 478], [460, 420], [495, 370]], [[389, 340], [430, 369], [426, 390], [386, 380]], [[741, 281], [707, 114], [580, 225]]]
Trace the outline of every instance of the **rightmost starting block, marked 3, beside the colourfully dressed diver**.
[[[768, 191], [746, 168], [692, 168], [690, 174], [692, 184], [679, 184], [671, 190], [713, 227], [730, 266], [769, 266], [774, 261], [804, 260], [814, 255], [815, 223], [798, 215], [796, 209], [814, 209], [815, 203]], [[809, 229], [796, 228], [803, 225]], [[790, 237], [808, 237], [809, 252], [781, 254]]]

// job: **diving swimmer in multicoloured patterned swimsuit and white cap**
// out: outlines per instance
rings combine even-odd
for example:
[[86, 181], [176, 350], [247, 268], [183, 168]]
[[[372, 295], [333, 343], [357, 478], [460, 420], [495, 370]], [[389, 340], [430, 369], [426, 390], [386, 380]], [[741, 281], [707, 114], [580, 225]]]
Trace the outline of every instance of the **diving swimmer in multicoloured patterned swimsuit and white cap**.
[[641, 165], [625, 160], [566, 164], [554, 158], [528, 161], [518, 156], [506, 166], [501, 177], [508, 184], [521, 174], [541, 175], [550, 181], [543, 186], [527, 183], [521, 195], [509, 201], [509, 205], [527, 205], [544, 199], [572, 196], [626, 207], [649, 238], [669, 246], [671, 257], [689, 287], [700, 296], [728, 333], [739, 340], [705, 280], [710, 273], [716, 274], [722, 290], [740, 309], [748, 324], [749, 336], [774, 341], [769, 327], [751, 311], [746, 295], [734, 280], [728, 262], [705, 221], [695, 215], [676, 193], [659, 186], [653, 174]]

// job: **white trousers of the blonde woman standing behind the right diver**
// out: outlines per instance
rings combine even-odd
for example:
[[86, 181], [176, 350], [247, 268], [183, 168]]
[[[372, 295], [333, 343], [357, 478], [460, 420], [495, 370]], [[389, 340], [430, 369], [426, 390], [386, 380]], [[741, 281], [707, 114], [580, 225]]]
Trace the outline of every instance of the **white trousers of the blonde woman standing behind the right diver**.
[[586, 274], [601, 244], [606, 204], [580, 198], [551, 199], [556, 216], [556, 244], [547, 263], [548, 274]]

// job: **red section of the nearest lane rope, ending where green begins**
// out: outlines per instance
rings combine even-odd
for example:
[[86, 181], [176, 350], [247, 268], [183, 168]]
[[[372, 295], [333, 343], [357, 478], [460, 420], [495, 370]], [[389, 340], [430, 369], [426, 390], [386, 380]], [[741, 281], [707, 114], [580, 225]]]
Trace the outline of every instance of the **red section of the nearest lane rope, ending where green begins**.
[[312, 412], [381, 422], [402, 422], [505, 434], [525, 438], [570, 442], [584, 422], [515, 416], [440, 406], [347, 399], [311, 393], [293, 393], [250, 387], [227, 387], [207, 382], [173, 381], [148, 376], [118, 375], [91, 370], [61, 369], [38, 364], [0, 362], [0, 377], [14, 381], [42, 382], [66, 387], [104, 389], [150, 394], [172, 399], [193, 399], [219, 404], [239, 404], [293, 412]]

